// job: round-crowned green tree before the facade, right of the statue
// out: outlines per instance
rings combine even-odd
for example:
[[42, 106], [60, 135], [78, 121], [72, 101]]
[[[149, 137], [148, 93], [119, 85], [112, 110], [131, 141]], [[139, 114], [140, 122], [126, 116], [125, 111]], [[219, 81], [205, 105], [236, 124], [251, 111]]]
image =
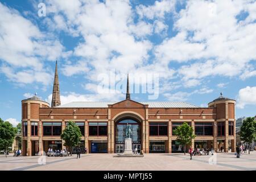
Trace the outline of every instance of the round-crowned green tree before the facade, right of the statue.
[[186, 145], [192, 144], [192, 139], [196, 137], [193, 133], [193, 128], [184, 122], [182, 125], [178, 126], [174, 130], [174, 134], [177, 136], [177, 142], [183, 144], [184, 146], [184, 155], [186, 154]]

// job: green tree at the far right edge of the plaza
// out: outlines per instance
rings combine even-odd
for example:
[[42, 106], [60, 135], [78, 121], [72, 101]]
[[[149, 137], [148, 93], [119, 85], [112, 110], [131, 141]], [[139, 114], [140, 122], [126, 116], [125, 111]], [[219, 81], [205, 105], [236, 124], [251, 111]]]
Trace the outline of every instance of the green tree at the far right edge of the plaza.
[[256, 136], [256, 121], [254, 117], [246, 118], [241, 126], [240, 137], [246, 143], [249, 143], [249, 154], [250, 154], [250, 144], [253, 142]]

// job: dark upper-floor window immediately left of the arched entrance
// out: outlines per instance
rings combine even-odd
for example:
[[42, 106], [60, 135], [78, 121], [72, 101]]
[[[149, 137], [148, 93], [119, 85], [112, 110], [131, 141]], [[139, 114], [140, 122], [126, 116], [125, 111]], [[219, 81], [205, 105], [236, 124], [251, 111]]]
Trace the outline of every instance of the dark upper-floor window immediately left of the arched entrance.
[[108, 124], [106, 122], [90, 122], [89, 135], [90, 136], [107, 136]]

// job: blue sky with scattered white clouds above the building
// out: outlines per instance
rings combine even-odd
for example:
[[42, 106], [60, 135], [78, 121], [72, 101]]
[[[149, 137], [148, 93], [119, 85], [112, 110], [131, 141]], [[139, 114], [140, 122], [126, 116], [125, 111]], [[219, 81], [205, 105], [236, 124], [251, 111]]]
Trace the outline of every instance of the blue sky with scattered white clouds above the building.
[[207, 107], [222, 92], [236, 117], [256, 114], [256, 1], [0, 0], [0, 13], [0, 117], [14, 125], [21, 100], [51, 102], [55, 60], [62, 104], [123, 100], [98, 89], [114, 70], [138, 85], [157, 75], [154, 101]]

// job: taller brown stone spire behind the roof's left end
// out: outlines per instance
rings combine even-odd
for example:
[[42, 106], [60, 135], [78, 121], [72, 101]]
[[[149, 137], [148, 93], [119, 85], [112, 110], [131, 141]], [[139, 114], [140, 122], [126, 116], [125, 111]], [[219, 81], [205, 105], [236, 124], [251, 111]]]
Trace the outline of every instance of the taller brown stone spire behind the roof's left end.
[[53, 82], [53, 90], [52, 90], [52, 107], [56, 107], [60, 105], [60, 85], [59, 85], [59, 76], [57, 71], [57, 60], [55, 66], [55, 76]]

